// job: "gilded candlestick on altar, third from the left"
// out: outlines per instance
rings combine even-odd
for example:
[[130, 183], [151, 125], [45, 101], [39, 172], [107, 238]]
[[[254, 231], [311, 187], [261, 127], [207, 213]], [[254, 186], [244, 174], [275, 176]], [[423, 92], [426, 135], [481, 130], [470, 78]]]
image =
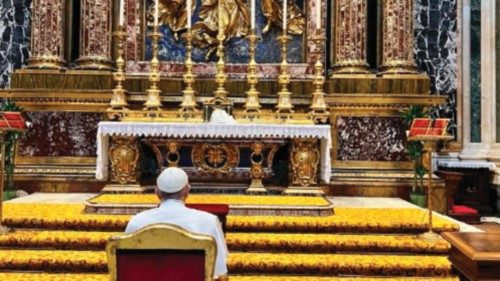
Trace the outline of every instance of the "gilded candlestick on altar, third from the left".
[[191, 28], [188, 28], [186, 35], [186, 61], [184, 65], [186, 66], [186, 73], [183, 75], [184, 84], [186, 88], [182, 91], [182, 103], [180, 109], [180, 116], [182, 118], [192, 118], [194, 112], [196, 112], [196, 98], [195, 91], [193, 89], [193, 83], [195, 75], [193, 74], [193, 35], [191, 33]]

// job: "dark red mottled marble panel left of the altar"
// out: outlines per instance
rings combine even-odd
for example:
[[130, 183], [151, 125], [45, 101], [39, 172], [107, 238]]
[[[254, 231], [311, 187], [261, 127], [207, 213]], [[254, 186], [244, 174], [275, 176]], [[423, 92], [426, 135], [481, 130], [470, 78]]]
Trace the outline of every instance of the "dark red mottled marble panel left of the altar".
[[30, 112], [33, 126], [21, 140], [20, 156], [96, 156], [100, 113]]

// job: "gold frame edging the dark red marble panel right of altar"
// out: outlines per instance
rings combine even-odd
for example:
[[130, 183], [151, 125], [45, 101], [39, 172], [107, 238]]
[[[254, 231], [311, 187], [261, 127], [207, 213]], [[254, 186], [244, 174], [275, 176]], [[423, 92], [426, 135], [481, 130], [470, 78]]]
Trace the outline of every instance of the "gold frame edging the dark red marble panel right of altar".
[[386, 108], [333, 108], [331, 111], [332, 145], [331, 151], [332, 168], [351, 168], [351, 169], [411, 169], [410, 161], [341, 161], [337, 160], [338, 152], [335, 149], [338, 142], [337, 137], [337, 118], [340, 116], [349, 117], [396, 117], [399, 110]]

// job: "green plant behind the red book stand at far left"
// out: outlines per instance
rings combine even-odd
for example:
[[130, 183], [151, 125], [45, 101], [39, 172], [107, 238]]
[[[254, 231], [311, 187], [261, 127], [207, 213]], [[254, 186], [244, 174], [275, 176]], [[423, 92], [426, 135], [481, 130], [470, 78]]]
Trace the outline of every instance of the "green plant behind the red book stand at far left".
[[[0, 105], [0, 111], [22, 111], [22, 108], [17, 106], [9, 99], [5, 99]], [[7, 185], [5, 190], [14, 189], [14, 159], [16, 153], [16, 142], [21, 136], [20, 132], [8, 132], [5, 134], [5, 177]]]

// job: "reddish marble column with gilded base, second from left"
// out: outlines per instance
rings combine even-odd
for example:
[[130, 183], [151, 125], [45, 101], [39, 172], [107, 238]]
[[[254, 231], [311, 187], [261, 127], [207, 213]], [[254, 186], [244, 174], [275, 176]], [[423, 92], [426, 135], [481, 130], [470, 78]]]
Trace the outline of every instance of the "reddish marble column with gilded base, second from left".
[[112, 0], [81, 1], [79, 69], [112, 69]]

